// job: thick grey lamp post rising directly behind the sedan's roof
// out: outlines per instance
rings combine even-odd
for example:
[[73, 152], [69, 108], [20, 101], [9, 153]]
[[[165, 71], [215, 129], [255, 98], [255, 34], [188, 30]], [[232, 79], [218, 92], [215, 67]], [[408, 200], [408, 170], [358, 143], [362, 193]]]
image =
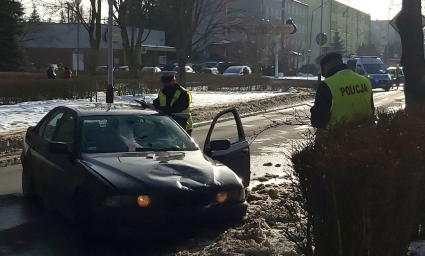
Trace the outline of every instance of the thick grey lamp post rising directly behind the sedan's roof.
[[106, 87], [106, 103], [114, 103], [113, 65], [114, 65], [114, 26], [112, 17], [114, 15], [113, 0], [109, 0], [108, 17], [108, 86]]

